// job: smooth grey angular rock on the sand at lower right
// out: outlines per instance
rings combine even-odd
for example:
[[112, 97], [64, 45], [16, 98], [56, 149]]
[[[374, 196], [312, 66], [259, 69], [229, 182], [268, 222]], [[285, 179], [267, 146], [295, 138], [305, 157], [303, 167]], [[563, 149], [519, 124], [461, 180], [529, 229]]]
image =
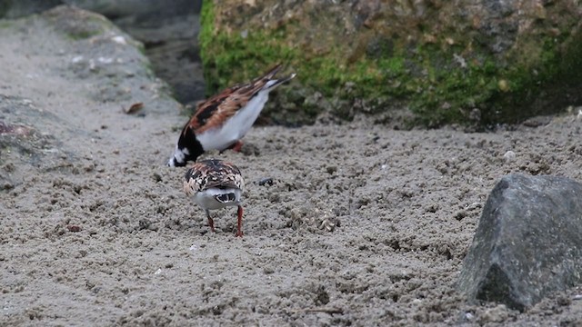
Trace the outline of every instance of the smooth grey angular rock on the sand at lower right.
[[582, 282], [582, 184], [509, 174], [489, 194], [457, 286], [520, 311]]

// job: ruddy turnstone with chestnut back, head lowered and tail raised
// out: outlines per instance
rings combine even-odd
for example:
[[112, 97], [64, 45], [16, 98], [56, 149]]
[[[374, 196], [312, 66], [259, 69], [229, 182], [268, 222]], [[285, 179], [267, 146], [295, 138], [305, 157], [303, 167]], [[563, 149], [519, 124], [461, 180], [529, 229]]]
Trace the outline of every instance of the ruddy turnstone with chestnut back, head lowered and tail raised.
[[196, 161], [208, 150], [239, 151], [245, 136], [261, 113], [269, 92], [296, 74], [275, 78], [281, 69], [277, 64], [265, 75], [249, 84], [238, 84], [216, 94], [196, 107], [196, 113], [182, 129], [176, 150], [167, 165], [184, 166], [187, 161]]

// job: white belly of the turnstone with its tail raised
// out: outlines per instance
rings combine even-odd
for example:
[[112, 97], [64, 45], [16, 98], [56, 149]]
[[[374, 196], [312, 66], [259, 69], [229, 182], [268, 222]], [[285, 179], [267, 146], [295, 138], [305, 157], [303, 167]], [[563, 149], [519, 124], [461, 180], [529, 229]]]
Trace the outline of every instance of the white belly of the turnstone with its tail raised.
[[230, 117], [222, 126], [196, 135], [204, 150], [225, 150], [228, 146], [243, 138], [255, 124], [258, 115], [261, 114], [269, 98], [269, 91], [260, 91], [245, 107]]

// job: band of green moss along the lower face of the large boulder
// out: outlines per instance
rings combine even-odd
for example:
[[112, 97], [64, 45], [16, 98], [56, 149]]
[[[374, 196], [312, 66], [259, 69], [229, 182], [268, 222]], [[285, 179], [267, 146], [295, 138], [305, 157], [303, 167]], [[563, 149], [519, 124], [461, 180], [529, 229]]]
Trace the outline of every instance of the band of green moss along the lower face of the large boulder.
[[[456, 56], [463, 54], [464, 47], [444, 47], [446, 42], [413, 45], [414, 50], [404, 50], [410, 49], [409, 45], [381, 44], [384, 47], [379, 46], [378, 53], [361, 54], [350, 62], [339, 57], [343, 53], [339, 49], [313, 54], [288, 46], [287, 33], [296, 30], [293, 22], [271, 31], [252, 29], [242, 35], [215, 30], [212, 2], [204, 3], [201, 16], [199, 37], [208, 94], [248, 81], [283, 62], [293, 67], [300, 84], [330, 99], [331, 110], [343, 117], [350, 116], [346, 113], [356, 99], [372, 104], [371, 113], [402, 100], [416, 115], [415, 124], [489, 125], [514, 123], [531, 115], [532, 110], [525, 110], [525, 106], [547, 85], [561, 85], [563, 76], [567, 76], [568, 84], [582, 83], [580, 36], [577, 42], [569, 43], [566, 57], [560, 55], [557, 45], [569, 35], [560, 35], [564, 38], [560, 40], [548, 37], [541, 49], [539, 40], [532, 39], [537, 55], [524, 55], [520, 64], [497, 64], [497, 58], [479, 48], [459, 59]], [[280, 92], [307, 116], [323, 110], [308, 100], [308, 94], [294, 94], [292, 87]], [[476, 109], [478, 117], [472, 114]]]

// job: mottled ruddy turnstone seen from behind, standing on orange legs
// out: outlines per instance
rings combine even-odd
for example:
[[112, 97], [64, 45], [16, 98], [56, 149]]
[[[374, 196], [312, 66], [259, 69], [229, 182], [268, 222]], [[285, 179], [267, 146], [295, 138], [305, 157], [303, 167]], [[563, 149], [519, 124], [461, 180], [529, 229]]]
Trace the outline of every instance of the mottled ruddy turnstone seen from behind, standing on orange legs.
[[194, 163], [186, 172], [184, 181], [184, 192], [194, 196], [194, 201], [205, 210], [212, 232], [215, 232], [215, 222], [210, 218], [210, 210], [238, 206], [238, 237], [243, 236], [243, 207], [240, 203], [244, 189], [245, 182], [236, 165], [218, 159]]

